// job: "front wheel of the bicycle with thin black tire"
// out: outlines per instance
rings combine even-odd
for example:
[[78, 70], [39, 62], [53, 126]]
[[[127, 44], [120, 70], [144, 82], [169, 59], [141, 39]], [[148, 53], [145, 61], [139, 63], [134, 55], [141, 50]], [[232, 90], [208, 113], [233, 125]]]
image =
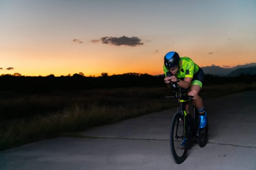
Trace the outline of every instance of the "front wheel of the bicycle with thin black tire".
[[185, 136], [183, 120], [184, 120], [184, 116], [181, 114], [181, 112], [177, 112], [173, 117], [171, 131], [170, 131], [171, 151], [172, 151], [174, 160], [176, 161], [177, 164], [182, 163], [186, 159], [187, 152], [188, 152], [188, 144], [186, 146], [181, 146], [181, 142], [183, 141], [183, 137]]

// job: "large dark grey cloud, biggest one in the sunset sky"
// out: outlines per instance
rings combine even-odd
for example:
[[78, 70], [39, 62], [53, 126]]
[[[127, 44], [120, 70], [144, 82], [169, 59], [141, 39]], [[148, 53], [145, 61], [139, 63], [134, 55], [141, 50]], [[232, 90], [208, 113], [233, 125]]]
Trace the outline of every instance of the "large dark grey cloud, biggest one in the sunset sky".
[[141, 39], [139, 39], [136, 36], [133, 37], [127, 37], [127, 36], [122, 36], [122, 37], [112, 37], [112, 36], [105, 36], [100, 38], [100, 40], [95, 40], [93, 39], [91, 42], [93, 43], [97, 43], [101, 41], [101, 43], [103, 44], [110, 44], [110, 45], [116, 45], [116, 46], [138, 46], [138, 45], [143, 45], [143, 43], [141, 43]]

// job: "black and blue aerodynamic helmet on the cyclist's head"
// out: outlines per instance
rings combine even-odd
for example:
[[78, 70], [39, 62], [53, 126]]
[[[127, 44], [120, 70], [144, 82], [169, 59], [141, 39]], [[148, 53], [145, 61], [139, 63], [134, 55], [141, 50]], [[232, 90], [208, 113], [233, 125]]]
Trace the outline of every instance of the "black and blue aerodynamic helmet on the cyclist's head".
[[178, 67], [179, 65], [179, 55], [175, 51], [167, 52], [164, 56], [164, 65], [166, 68], [170, 69], [173, 67]]

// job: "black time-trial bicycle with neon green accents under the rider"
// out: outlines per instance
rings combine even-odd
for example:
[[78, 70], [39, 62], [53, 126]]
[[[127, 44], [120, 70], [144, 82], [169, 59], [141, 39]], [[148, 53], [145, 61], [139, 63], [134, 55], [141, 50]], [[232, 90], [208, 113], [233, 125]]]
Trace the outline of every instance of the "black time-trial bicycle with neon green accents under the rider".
[[[179, 87], [177, 83], [171, 83], [170, 85], [171, 89], [176, 92], [176, 95], [166, 96], [164, 98], [176, 98], [179, 103], [177, 112], [172, 119], [170, 147], [175, 162], [180, 164], [186, 159], [188, 149], [191, 148], [194, 137], [197, 138], [197, 143], [201, 148], [207, 144], [208, 124], [203, 129], [199, 128], [199, 113], [194, 106], [194, 117], [192, 117], [191, 114], [187, 114], [185, 102], [191, 101], [194, 97], [187, 95], [188, 89]], [[186, 141], [186, 143], [183, 141]]]

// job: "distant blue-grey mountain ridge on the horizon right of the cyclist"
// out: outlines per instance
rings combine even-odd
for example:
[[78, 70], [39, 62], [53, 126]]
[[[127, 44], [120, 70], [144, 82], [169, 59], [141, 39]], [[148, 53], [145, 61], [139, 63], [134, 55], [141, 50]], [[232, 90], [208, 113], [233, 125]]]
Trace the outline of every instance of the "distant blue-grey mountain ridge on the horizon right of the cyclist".
[[[256, 63], [250, 63], [246, 65], [238, 65], [234, 68], [221, 68], [219, 66], [206, 66], [201, 67], [205, 74], [212, 74], [217, 76], [237, 76], [235, 74], [241, 74], [241, 73], [248, 73], [248, 74], [254, 74], [254, 69], [256, 67]], [[248, 68], [248, 70], [247, 70]], [[238, 71], [236, 71], [238, 69]], [[235, 73], [233, 72], [235, 71]]]

